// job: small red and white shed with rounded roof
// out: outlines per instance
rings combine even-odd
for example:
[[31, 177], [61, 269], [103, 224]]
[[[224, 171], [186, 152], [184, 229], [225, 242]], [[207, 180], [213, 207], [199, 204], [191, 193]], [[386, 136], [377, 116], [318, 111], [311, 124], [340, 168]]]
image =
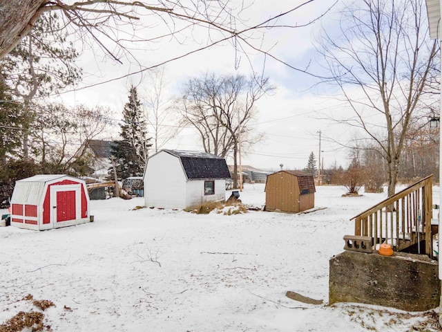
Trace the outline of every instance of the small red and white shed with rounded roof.
[[89, 221], [86, 183], [64, 174], [36, 175], [15, 183], [11, 225], [50, 230]]

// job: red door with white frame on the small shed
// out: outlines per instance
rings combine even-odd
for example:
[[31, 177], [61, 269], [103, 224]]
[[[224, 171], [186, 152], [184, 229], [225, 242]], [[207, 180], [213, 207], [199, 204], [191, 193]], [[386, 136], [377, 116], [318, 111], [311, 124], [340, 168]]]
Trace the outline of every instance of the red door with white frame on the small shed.
[[81, 216], [81, 185], [51, 186], [50, 205], [52, 225], [75, 221]]

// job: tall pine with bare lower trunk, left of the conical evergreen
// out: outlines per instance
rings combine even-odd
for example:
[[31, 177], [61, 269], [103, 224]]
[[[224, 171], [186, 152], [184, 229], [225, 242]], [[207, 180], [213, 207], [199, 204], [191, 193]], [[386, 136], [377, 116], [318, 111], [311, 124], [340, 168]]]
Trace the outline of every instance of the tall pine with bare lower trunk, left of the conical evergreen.
[[81, 68], [75, 63], [77, 50], [68, 42], [68, 32], [61, 28], [62, 24], [61, 17], [55, 12], [41, 15], [32, 25], [30, 35], [23, 37], [0, 61], [3, 82], [15, 102], [21, 105], [23, 159], [32, 159], [35, 158], [32, 153], [41, 153], [35, 151], [32, 141], [38, 135], [35, 124], [42, 115], [38, 113], [45, 108], [37, 107], [35, 98], [58, 93], [81, 78]]

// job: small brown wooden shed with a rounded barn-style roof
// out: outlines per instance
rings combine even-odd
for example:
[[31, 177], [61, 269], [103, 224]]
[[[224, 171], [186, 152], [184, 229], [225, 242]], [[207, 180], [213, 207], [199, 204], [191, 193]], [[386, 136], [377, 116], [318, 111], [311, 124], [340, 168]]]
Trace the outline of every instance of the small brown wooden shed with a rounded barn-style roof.
[[301, 212], [315, 206], [313, 176], [300, 171], [280, 171], [267, 176], [265, 209]]

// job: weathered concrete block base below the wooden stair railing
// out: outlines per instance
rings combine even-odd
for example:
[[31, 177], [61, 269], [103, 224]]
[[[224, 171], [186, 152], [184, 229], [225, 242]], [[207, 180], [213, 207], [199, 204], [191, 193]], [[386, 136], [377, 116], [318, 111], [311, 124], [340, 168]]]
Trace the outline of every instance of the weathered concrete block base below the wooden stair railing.
[[329, 261], [329, 304], [356, 302], [426, 311], [439, 306], [438, 263], [426, 255], [345, 251]]

